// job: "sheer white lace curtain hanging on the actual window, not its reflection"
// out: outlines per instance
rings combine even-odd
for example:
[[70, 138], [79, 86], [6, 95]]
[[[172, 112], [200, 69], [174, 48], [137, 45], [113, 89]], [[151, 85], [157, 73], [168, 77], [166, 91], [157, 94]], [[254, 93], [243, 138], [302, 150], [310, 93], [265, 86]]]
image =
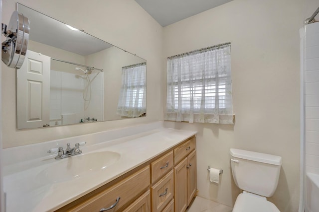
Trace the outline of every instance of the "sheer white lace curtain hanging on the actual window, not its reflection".
[[230, 43], [167, 59], [165, 120], [233, 124]]

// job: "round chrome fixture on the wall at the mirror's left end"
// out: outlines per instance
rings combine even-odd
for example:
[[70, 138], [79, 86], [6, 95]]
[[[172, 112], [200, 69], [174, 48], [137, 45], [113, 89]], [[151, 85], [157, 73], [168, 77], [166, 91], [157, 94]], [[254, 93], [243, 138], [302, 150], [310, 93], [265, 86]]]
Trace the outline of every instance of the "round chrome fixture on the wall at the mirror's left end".
[[7, 39], [2, 42], [1, 60], [9, 68], [19, 69], [24, 61], [29, 41], [29, 19], [14, 11], [9, 25], [2, 23], [1, 34]]

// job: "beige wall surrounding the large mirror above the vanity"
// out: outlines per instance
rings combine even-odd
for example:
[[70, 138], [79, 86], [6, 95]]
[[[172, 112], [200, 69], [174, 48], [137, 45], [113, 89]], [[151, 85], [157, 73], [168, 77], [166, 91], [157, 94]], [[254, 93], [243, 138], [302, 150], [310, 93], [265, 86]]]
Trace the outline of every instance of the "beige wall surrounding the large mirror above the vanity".
[[[15, 10], [13, 0], [2, 1], [2, 22], [8, 23]], [[48, 129], [16, 130], [15, 70], [2, 68], [2, 143], [13, 147], [50, 141], [107, 129], [148, 123], [162, 119], [162, 27], [134, 0], [19, 0], [91, 35], [105, 40], [147, 60], [147, 111], [145, 118], [136, 118]], [[32, 23], [31, 23], [32, 24]], [[32, 25], [30, 25], [32, 27]], [[32, 28], [30, 29], [32, 30]], [[160, 97], [160, 98], [159, 98]]]

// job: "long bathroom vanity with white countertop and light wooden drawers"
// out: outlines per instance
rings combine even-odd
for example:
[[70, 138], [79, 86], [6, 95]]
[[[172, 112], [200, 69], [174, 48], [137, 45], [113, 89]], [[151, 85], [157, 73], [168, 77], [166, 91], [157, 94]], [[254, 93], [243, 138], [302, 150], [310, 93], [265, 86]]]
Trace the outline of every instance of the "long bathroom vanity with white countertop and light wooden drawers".
[[52, 154], [28, 161], [32, 166], [25, 161], [5, 166], [7, 212], [23, 207], [33, 212], [184, 212], [197, 190], [196, 132], [162, 128], [97, 142], [118, 133], [50, 141], [45, 145], [88, 142], [80, 155], [56, 160]]

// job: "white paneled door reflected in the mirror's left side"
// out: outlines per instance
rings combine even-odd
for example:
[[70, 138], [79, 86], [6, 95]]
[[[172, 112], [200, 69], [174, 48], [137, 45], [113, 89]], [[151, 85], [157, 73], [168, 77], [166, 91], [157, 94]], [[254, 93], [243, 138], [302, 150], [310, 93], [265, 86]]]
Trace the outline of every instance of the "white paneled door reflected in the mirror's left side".
[[43, 127], [50, 122], [50, 57], [27, 50], [16, 70], [17, 128]]

